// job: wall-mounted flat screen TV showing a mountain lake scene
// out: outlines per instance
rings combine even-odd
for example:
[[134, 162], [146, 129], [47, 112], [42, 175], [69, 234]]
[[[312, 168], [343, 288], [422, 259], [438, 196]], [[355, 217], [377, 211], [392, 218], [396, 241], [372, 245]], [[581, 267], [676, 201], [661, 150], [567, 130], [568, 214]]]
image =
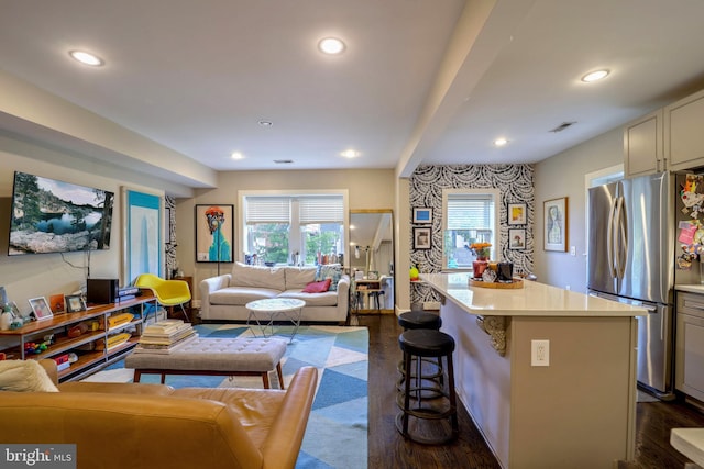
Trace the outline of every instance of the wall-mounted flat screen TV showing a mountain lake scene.
[[110, 248], [114, 193], [14, 172], [8, 254]]

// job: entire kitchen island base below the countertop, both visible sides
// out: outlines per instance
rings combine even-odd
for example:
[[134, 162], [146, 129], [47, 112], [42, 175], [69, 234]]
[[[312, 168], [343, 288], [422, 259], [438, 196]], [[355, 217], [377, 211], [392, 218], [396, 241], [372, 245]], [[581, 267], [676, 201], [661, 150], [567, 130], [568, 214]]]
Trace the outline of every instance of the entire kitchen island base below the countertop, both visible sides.
[[[447, 299], [442, 331], [457, 342], [462, 404], [504, 468], [610, 468], [634, 457], [634, 317], [506, 316], [501, 356], [470, 314]], [[531, 367], [530, 342], [550, 340]]]

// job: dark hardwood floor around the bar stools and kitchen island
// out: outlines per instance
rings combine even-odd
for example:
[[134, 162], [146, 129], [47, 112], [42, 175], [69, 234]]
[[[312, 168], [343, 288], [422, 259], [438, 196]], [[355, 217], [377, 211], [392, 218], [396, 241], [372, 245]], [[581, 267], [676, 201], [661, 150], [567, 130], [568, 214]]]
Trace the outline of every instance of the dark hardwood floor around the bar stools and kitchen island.
[[[360, 315], [370, 331], [369, 467], [378, 468], [498, 468], [471, 418], [460, 405], [460, 438], [448, 445], [426, 446], [404, 440], [396, 431], [395, 382], [400, 358], [396, 316]], [[679, 399], [638, 403], [636, 458], [622, 469], [684, 468], [688, 459], [670, 446], [673, 427], [704, 427], [704, 413]], [[580, 469], [580, 468], [578, 468]]]

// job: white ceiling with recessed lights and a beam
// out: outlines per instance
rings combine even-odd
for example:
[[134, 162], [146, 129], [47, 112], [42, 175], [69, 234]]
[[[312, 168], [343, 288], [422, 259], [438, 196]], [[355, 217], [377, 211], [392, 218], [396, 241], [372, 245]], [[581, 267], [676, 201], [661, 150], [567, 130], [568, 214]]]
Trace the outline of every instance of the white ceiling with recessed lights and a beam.
[[539, 161], [704, 88], [703, 19], [702, 0], [0, 0], [0, 69], [217, 170], [407, 176]]

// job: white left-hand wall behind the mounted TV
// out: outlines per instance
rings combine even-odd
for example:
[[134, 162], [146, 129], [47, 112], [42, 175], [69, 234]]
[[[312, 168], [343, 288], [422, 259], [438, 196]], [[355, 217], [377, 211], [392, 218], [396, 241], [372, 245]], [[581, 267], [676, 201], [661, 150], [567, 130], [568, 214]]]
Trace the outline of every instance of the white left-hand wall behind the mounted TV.
[[[8, 256], [10, 205], [14, 171], [59, 179], [81, 186], [97, 187], [116, 193], [110, 249], [92, 252], [92, 278], [121, 278], [122, 201], [120, 188], [164, 194], [168, 183], [130, 175], [120, 168], [87, 160], [80, 155], [62, 153], [0, 135], [0, 286], [22, 311], [29, 311], [30, 298], [72, 293], [86, 284], [88, 259], [85, 253], [35, 254]], [[69, 264], [70, 263], [70, 264]], [[73, 266], [75, 267], [73, 267]]]

